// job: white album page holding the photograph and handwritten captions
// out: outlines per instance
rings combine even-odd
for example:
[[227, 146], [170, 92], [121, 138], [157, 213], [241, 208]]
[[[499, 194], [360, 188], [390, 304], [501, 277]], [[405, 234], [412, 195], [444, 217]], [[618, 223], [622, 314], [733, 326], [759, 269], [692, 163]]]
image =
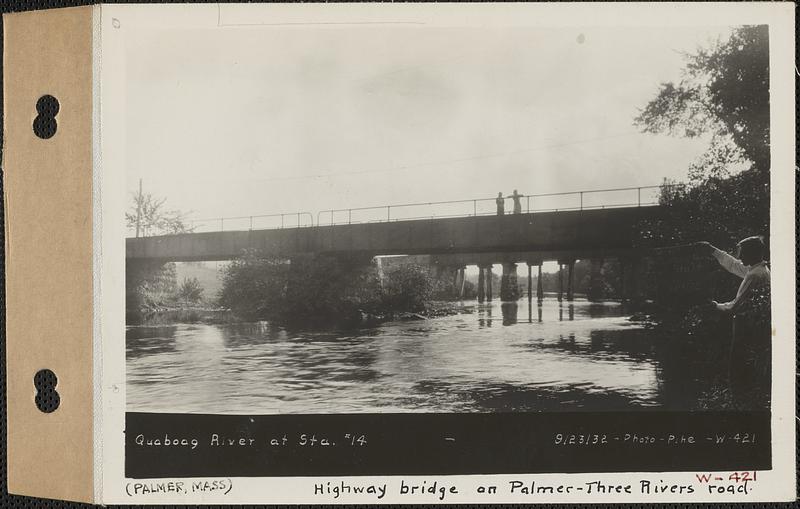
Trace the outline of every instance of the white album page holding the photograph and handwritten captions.
[[103, 502], [793, 500], [792, 7], [102, 6]]

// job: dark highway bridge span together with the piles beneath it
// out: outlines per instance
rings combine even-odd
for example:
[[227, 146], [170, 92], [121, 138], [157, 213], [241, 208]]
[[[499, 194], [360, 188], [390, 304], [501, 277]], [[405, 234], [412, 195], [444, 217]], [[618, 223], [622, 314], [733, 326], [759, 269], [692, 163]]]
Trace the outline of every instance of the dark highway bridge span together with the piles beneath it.
[[[641, 189], [630, 188], [637, 190], [638, 196], [641, 196]], [[304, 226], [128, 238], [126, 259], [130, 268], [131, 264], [144, 262], [232, 260], [247, 251], [287, 260], [299, 255], [321, 254], [366, 262], [376, 256], [428, 255], [426, 259], [439, 270], [454, 271], [456, 287], [460, 285], [463, 288], [464, 267], [478, 265], [479, 299], [490, 300], [492, 265], [502, 264], [500, 294], [505, 299], [516, 291], [517, 264], [525, 263], [528, 266], [530, 283], [531, 267], [538, 267], [541, 275], [542, 263], [555, 260], [566, 269], [566, 294], [567, 299], [571, 300], [575, 260], [601, 261], [613, 257], [623, 261], [623, 270], [630, 280], [624, 286], [628, 287], [628, 293], [635, 295], [638, 287], [637, 266], [646, 256], [644, 251], [635, 246], [638, 225], [643, 220], [657, 219], [662, 208], [653, 202], [642, 203], [641, 199], [633, 205], [589, 208], [583, 206], [584, 193], [590, 192], [581, 192], [581, 206], [572, 210], [525, 210], [503, 215], [475, 213], [461, 217], [392, 219], [391, 209], [386, 207], [387, 214], [383, 220], [354, 223], [352, 211], [368, 209], [347, 209], [347, 219], [343, 224], [333, 220], [334, 212], [342, 211], [329, 211], [331, 220], [323, 224], [320, 223], [324, 217], [318, 214], [316, 223], [312, 217], [311, 224]], [[529, 204], [530, 198], [524, 198]], [[397, 209], [398, 206], [393, 207]], [[477, 211], [477, 208], [477, 203], [473, 203], [473, 210]], [[374, 209], [383, 210], [383, 207]], [[296, 215], [296, 219], [299, 224], [300, 214]], [[281, 215], [282, 223], [283, 220], [284, 215]], [[220, 226], [223, 225], [224, 222], [220, 221]], [[599, 263], [593, 263], [593, 276], [599, 277], [599, 266]], [[539, 277], [537, 296], [540, 299], [541, 280]], [[530, 294], [530, 284], [528, 289]], [[563, 291], [559, 298], [561, 293]]]

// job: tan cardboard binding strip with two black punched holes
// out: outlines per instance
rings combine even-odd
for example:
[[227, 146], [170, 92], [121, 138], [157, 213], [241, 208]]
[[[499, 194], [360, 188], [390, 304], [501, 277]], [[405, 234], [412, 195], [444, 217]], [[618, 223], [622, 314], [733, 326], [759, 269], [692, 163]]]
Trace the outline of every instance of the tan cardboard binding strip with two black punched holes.
[[[94, 501], [93, 7], [4, 15], [7, 461], [10, 493]], [[60, 103], [35, 136], [36, 101]], [[40, 412], [51, 369], [60, 406]]]

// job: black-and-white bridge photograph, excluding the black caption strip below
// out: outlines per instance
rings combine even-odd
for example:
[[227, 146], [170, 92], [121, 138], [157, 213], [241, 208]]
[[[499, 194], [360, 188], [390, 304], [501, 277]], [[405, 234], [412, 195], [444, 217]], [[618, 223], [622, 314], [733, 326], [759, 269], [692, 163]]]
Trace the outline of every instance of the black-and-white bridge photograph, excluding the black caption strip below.
[[766, 25], [126, 50], [129, 411], [769, 408]]

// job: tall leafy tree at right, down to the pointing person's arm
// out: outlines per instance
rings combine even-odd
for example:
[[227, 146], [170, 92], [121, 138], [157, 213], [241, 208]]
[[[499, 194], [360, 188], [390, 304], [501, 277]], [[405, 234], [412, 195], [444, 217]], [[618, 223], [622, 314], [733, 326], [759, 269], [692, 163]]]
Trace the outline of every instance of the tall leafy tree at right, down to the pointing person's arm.
[[[634, 123], [645, 132], [710, 135], [689, 185], [664, 187], [664, 217], [643, 244], [709, 240], [721, 247], [769, 231], [769, 32], [735, 28], [727, 40], [684, 55], [679, 83], [664, 83]], [[742, 171], [732, 171], [740, 169]]]

